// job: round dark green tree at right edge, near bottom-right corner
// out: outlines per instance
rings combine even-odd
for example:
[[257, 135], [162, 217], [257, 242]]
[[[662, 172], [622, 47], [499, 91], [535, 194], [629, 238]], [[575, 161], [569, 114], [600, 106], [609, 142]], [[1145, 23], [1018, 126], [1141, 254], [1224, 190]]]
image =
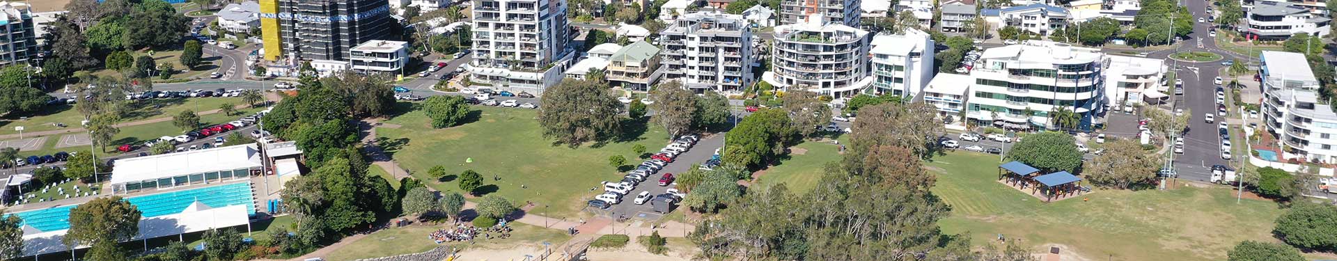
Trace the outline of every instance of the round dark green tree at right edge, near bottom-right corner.
[[1317, 250], [1337, 249], [1337, 207], [1301, 202], [1277, 217], [1271, 230], [1293, 246]]

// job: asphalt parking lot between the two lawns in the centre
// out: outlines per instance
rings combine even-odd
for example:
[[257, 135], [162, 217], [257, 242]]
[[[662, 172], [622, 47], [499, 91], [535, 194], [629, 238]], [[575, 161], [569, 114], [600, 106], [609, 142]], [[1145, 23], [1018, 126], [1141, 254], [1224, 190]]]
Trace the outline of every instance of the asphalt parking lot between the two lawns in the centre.
[[[640, 185], [638, 185], [635, 189], [632, 189], [630, 193], [627, 193], [627, 195], [622, 197], [622, 202], [615, 203], [611, 207], [602, 209], [602, 210], [600, 209], [594, 209], [594, 207], [587, 207], [587, 209], [594, 210], [595, 213], [607, 213], [611, 217], [627, 217], [627, 218], [638, 218], [638, 220], [658, 220], [659, 217], [662, 217], [666, 213], [654, 211], [651, 203], [648, 203], [648, 202], [644, 203], [644, 205], [636, 205], [634, 202], [635, 198], [636, 198], [636, 195], [640, 194], [642, 191], [650, 191], [650, 195], [654, 197], [654, 195], [659, 195], [659, 194], [667, 193], [668, 189], [677, 187], [677, 182], [670, 183], [668, 186], [659, 186], [658, 185], [659, 178], [662, 178], [663, 174], [666, 174], [666, 173], [673, 173], [674, 175], [678, 175], [681, 173], [687, 173], [689, 170], [691, 170], [691, 165], [697, 165], [697, 163], [702, 163], [702, 162], [709, 161], [711, 158], [711, 155], [715, 154], [715, 149], [719, 149], [721, 146], [723, 146], [723, 141], [725, 141], [725, 135], [723, 134], [715, 134], [715, 135], [711, 135], [711, 137], [702, 137], [701, 141], [698, 141], [695, 146], [693, 146], [690, 150], [679, 154], [678, 158], [674, 158], [674, 162], [666, 165], [663, 169], [659, 170], [659, 173], [655, 173], [654, 175], [646, 177], [646, 181], [640, 182]], [[659, 149], [663, 149], [664, 145], [668, 145], [668, 143], [666, 142], [666, 143], [658, 145], [658, 146], [646, 146], [646, 150], [650, 151], [650, 153], [656, 153], [656, 151], [659, 151]], [[634, 161], [634, 162], [630, 162], [628, 165], [639, 165], [640, 162], [643, 162], [643, 161]], [[610, 182], [615, 182], [615, 181], [610, 181]], [[603, 187], [603, 185], [599, 185], [599, 187]], [[675, 209], [674, 211], [679, 211], [679, 210]]]

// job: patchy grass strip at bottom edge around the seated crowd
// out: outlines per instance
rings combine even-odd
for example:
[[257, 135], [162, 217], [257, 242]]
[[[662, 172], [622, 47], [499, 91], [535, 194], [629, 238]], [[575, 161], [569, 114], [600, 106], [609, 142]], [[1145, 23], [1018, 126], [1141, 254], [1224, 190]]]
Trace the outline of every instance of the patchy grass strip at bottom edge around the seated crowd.
[[[484, 249], [515, 248], [516, 245], [539, 245], [543, 242], [550, 242], [554, 246], [556, 246], [562, 245], [562, 242], [566, 242], [567, 240], [571, 238], [560, 229], [544, 229], [541, 226], [531, 226], [515, 222], [508, 225], [513, 230], [511, 232], [511, 237], [505, 240], [480, 238], [475, 240], [475, 244], [452, 242], [445, 245], [449, 245], [452, 248], [459, 248], [461, 250], [467, 248], [484, 248]], [[345, 261], [345, 260], [389, 257], [396, 254], [427, 252], [437, 246], [437, 244], [429, 240], [427, 236], [432, 232], [436, 232], [437, 229], [445, 229], [445, 228], [448, 228], [448, 225], [410, 225], [404, 228], [380, 230], [353, 244], [344, 245], [342, 248], [334, 250], [325, 258], [330, 261]]]

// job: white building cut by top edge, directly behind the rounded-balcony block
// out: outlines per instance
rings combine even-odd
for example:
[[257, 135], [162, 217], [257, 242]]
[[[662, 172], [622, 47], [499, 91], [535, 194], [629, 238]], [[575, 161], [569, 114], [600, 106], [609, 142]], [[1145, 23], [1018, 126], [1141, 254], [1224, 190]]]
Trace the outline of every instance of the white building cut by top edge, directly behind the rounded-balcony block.
[[858, 27], [861, 5], [862, 0], [783, 0], [779, 3], [779, 24], [801, 24], [812, 15], [821, 15], [817, 16], [822, 19], [820, 24]]

